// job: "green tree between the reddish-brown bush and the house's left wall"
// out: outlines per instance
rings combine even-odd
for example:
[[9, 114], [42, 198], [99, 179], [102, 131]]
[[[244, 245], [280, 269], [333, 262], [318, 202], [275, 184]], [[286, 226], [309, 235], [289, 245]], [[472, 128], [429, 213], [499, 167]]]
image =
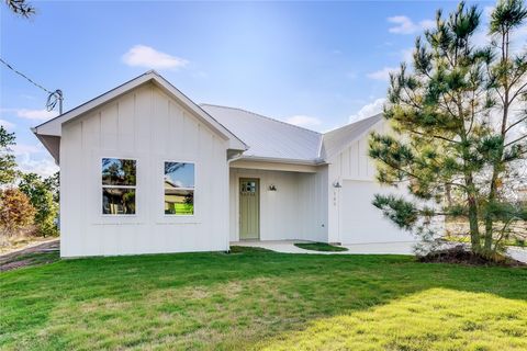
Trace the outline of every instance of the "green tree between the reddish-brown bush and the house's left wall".
[[42, 236], [57, 235], [56, 218], [58, 215], [58, 204], [54, 201], [53, 190], [35, 173], [24, 173], [21, 176], [19, 189], [30, 199], [35, 207], [35, 225], [38, 234]]

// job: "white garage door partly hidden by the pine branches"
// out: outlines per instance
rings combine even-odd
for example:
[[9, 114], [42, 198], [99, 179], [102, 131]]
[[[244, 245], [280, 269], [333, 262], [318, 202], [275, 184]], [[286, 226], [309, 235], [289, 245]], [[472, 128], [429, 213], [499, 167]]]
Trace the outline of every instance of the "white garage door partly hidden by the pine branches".
[[412, 235], [399, 229], [371, 204], [374, 194], [396, 192], [396, 189], [380, 186], [372, 181], [344, 181], [339, 201], [341, 242], [412, 241]]

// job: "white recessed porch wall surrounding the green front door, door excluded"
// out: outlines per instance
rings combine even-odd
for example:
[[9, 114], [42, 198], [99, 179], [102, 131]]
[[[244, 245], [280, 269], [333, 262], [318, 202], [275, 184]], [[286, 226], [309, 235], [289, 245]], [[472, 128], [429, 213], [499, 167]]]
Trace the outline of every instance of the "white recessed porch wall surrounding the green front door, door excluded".
[[240, 178], [260, 180], [260, 240], [327, 241], [327, 167], [316, 173], [231, 168], [231, 241], [239, 240]]

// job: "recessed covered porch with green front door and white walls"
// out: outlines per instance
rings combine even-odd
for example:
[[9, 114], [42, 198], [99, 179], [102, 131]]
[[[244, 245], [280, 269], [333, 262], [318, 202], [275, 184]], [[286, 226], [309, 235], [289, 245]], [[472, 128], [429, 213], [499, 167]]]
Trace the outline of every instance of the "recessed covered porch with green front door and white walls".
[[240, 159], [229, 167], [229, 240], [327, 241], [327, 166]]

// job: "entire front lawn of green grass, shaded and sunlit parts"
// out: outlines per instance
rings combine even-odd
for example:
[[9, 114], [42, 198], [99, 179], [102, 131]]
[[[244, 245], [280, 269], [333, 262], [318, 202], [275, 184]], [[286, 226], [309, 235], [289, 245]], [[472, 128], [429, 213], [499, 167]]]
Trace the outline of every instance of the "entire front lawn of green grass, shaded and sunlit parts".
[[527, 349], [527, 269], [233, 251], [0, 273], [0, 349]]

